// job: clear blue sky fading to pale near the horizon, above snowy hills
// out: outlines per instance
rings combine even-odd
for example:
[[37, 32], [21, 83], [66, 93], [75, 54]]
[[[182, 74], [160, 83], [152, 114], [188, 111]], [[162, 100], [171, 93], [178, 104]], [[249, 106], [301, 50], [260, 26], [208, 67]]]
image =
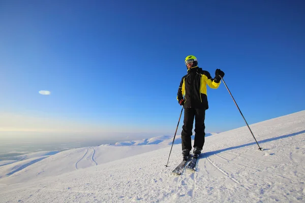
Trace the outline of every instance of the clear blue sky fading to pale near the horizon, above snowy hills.
[[[187, 55], [212, 77], [225, 72], [249, 124], [304, 110], [304, 8], [303, 1], [0, 1], [2, 129], [173, 134]], [[207, 93], [206, 132], [245, 126], [224, 84]]]

